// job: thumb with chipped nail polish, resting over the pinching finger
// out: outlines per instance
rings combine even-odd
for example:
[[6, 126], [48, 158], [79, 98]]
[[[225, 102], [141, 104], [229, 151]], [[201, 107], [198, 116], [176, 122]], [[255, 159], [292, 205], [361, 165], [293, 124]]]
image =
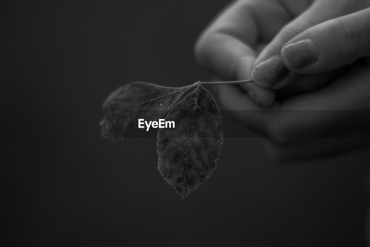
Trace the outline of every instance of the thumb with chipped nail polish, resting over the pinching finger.
[[370, 55], [370, 8], [310, 27], [281, 50], [286, 67], [296, 73], [320, 73]]

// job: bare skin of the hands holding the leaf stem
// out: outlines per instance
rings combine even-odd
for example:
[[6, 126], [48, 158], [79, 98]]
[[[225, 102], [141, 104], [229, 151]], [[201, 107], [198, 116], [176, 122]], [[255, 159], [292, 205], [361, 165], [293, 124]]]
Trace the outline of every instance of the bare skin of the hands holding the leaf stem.
[[369, 0], [234, 1], [203, 31], [195, 56], [223, 80], [254, 80], [217, 86], [218, 96], [265, 137], [273, 159], [363, 147], [370, 144], [369, 7]]

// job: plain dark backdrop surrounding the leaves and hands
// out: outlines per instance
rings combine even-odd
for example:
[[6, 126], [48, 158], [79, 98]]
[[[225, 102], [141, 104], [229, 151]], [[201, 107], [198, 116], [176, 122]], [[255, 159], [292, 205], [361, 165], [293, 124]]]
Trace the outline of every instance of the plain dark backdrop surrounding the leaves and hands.
[[119, 86], [208, 79], [193, 46], [226, 3], [1, 1], [3, 241], [361, 246], [369, 149], [278, 165], [259, 138], [225, 138], [212, 178], [180, 200], [156, 138], [101, 137], [102, 102]]

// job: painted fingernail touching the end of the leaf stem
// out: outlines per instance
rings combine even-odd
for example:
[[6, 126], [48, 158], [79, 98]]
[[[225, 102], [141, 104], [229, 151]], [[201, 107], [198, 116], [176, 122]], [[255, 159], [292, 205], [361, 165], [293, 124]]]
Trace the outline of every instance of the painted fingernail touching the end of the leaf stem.
[[253, 68], [252, 78], [257, 85], [270, 88], [288, 73], [289, 70], [283, 64], [281, 57], [274, 55]]

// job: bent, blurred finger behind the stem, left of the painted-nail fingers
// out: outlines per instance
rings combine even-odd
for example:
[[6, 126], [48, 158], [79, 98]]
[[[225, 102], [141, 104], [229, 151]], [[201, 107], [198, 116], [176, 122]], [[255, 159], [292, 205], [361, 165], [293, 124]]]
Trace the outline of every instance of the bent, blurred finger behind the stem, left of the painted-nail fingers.
[[[196, 59], [224, 80], [249, 79], [257, 42], [272, 39], [290, 18], [278, 1], [237, 1], [198, 39]], [[242, 87], [260, 106], [273, 102], [275, 93], [271, 90], [253, 83]]]

